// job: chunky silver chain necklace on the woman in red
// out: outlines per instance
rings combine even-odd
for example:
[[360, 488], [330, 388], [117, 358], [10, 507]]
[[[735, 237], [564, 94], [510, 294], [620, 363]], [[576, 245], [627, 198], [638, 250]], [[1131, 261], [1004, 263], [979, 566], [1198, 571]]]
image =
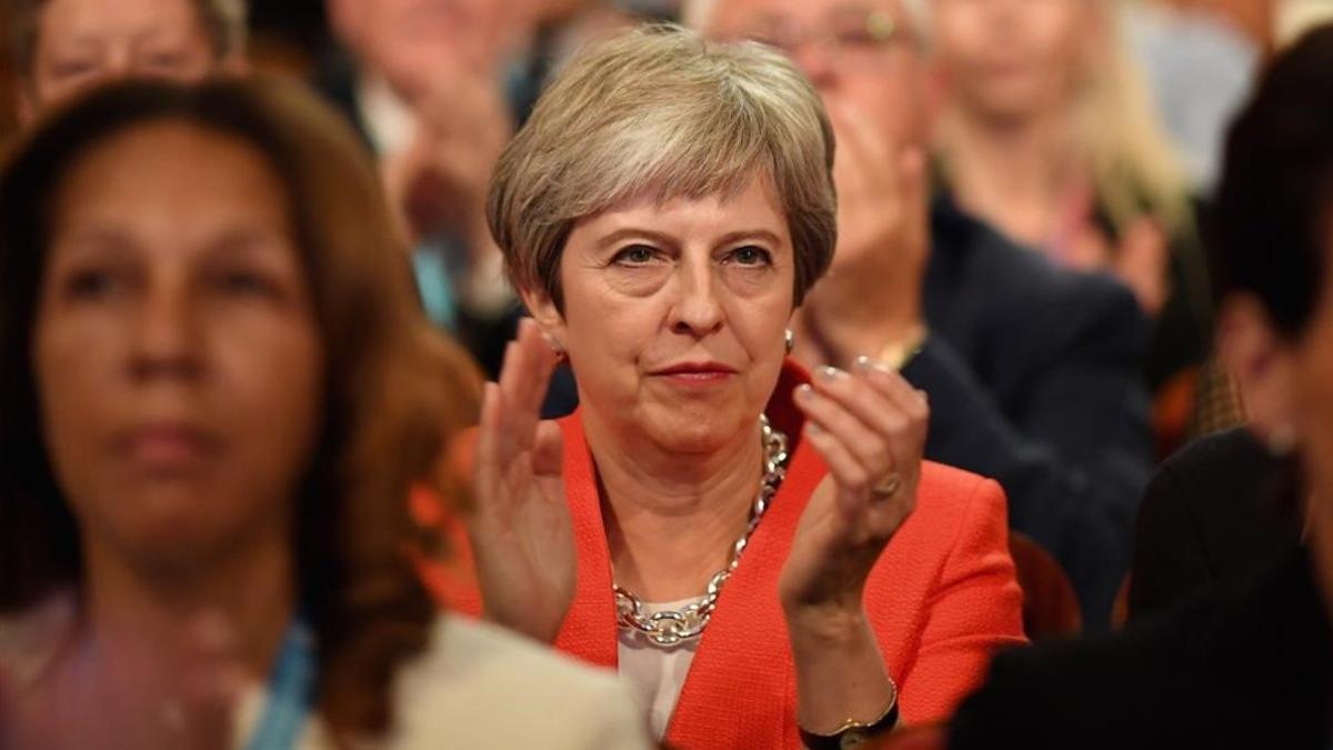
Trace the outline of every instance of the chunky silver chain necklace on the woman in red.
[[648, 643], [661, 649], [670, 649], [682, 641], [698, 638], [704, 633], [704, 626], [708, 625], [713, 610], [717, 609], [717, 597], [722, 591], [722, 585], [740, 565], [741, 552], [749, 544], [749, 538], [758, 527], [758, 520], [764, 518], [764, 511], [768, 510], [769, 502], [782, 484], [782, 478], [786, 476], [786, 435], [774, 430], [768, 423], [768, 416], [760, 415], [758, 424], [760, 444], [764, 448], [764, 478], [760, 482], [754, 504], [750, 506], [745, 531], [732, 544], [732, 558], [726, 567], [713, 574], [713, 578], [708, 581], [708, 590], [700, 601], [678, 610], [664, 610], [653, 614], [644, 610], [644, 602], [633, 591], [612, 583], [611, 587], [616, 593], [616, 622], [621, 630], [637, 633]]

